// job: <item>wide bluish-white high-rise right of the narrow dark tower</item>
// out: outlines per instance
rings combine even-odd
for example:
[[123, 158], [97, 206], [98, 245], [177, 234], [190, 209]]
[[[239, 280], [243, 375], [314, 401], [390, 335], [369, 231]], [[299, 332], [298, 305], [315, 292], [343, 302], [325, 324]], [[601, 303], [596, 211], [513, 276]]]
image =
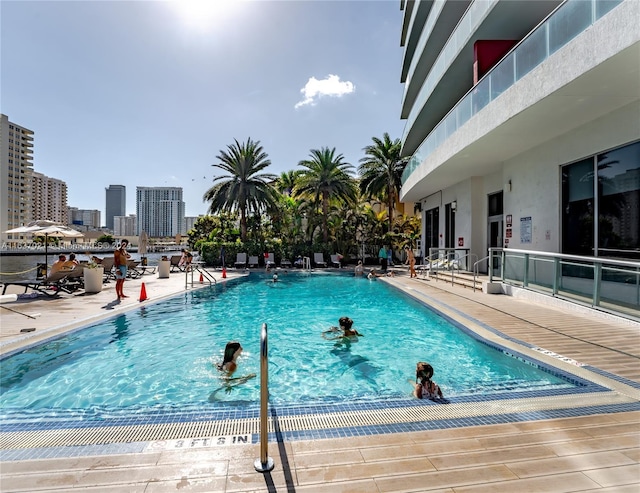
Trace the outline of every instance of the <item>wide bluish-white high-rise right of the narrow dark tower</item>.
[[152, 238], [185, 234], [184, 210], [182, 188], [137, 187], [136, 234], [145, 231]]

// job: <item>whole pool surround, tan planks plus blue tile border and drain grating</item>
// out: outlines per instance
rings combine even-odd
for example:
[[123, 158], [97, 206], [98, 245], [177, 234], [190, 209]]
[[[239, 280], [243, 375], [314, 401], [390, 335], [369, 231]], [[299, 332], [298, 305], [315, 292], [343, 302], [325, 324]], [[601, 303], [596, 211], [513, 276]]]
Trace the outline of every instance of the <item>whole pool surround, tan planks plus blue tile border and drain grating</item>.
[[[237, 275], [228, 272], [229, 278]], [[220, 272], [215, 274], [220, 279]], [[184, 274], [5, 305], [0, 353], [183, 292]], [[378, 281], [375, 281], [378, 282]], [[146, 422], [2, 427], [0, 491], [638, 491], [640, 325], [442, 282], [390, 279], [465, 330], [581, 383], [577, 390], [271, 409], [270, 473], [256, 410]], [[35, 328], [21, 334], [20, 329]], [[391, 405], [390, 405], [391, 404]]]

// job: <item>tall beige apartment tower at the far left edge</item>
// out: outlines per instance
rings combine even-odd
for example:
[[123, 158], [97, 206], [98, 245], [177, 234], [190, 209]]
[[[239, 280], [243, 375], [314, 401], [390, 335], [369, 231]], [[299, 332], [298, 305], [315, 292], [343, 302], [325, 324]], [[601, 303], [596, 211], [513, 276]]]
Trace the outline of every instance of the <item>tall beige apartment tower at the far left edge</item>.
[[[0, 115], [0, 232], [33, 220], [32, 161], [33, 131]], [[2, 234], [3, 240], [17, 238]]]

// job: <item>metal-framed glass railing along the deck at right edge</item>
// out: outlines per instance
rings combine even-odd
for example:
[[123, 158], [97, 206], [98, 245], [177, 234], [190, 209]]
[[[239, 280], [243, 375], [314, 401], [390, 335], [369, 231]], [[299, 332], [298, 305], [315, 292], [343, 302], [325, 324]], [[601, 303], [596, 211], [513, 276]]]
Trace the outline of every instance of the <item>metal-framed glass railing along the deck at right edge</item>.
[[511, 248], [490, 248], [489, 257], [506, 284], [640, 321], [640, 262]]

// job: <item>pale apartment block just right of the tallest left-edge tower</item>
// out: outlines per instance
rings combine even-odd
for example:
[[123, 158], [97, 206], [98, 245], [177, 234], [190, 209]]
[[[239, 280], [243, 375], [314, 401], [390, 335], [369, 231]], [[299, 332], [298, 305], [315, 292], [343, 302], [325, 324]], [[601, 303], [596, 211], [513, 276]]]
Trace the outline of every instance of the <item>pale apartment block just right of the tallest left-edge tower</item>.
[[31, 183], [33, 219], [68, 224], [67, 184], [36, 171], [32, 173]]

